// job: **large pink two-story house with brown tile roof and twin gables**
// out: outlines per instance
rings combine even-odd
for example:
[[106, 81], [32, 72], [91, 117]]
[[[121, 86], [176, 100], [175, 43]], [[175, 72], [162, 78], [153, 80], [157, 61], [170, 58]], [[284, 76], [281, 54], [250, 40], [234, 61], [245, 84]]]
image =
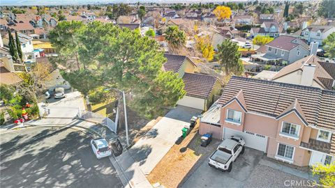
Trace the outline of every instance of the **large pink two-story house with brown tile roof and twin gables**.
[[241, 136], [246, 146], [297, 166], [335, 160], [335, 91], [232, 77], [200, 119], [200, 134]]

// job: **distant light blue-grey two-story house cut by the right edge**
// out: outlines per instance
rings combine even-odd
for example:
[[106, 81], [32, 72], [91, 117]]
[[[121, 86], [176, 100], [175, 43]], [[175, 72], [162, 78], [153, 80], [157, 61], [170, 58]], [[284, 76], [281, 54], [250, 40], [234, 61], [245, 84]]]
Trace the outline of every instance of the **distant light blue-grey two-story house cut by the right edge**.
[[308, 42], [318, 42], [322, 45], [322, 40], [334, 32], [335, 26], [307, 26], [301, 30], [300, 36]]

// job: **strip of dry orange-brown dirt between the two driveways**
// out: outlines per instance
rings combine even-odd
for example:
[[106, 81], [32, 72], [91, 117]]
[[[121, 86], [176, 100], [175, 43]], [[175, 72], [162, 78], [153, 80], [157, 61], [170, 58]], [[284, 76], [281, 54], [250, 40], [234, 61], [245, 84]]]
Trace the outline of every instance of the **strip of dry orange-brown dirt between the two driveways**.
[[207, 159], [220, 143], [213, 139], [206, 148], [200, 146], [199, 123], [185, 139], [179, 139], [148, 175], [151, 184], [178, 187], [195, 169]]

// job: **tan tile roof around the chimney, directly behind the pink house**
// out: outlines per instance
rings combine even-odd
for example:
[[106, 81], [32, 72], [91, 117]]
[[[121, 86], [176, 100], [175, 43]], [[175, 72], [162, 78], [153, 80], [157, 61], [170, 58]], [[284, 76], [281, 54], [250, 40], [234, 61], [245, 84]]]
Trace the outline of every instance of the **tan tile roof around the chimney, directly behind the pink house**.
[[[332, 89], [332, 84], [334, 81], [334, 77], [329, 75], [328, 72], [334, 73], [335, 76], [335, 63], [326, 63], [326, 62], [320, 62], [320, 58], [315, 55], [306, 56], [304, 58], [299, 59], [298, 61], [295, 61], [294, 63], [291, 63], [290, 65], [285, 66], [282, 68], [272, 80], [276, 80], [280, 77], [283, 77], [285, 75], [288, 75], [292, 72], [295, 72], [297, 70], [304, 71], [304, 65], [305, 64], [311, 64], [315, 65], [315, 73], [313, 75], [314, 80], [318, 82], [323, 88], [326, 89]], [[323, 66], [322, 66], [322, 65]], [[334, 65], [333, 65], [334, 64]], [[329, 69], [329, 70], [327, 70]]]

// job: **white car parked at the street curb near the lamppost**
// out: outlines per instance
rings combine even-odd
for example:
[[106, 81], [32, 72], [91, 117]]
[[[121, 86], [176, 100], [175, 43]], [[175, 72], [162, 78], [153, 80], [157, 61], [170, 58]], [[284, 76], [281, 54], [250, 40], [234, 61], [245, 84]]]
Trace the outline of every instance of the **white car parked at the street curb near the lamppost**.
[[108, 146], [108, 143], [104, 138], [91, 140], [91, 147], [94, 152], [94, 155], [96, 155], [96, 158], [98, 159], [112, 155], [110, 146]]

